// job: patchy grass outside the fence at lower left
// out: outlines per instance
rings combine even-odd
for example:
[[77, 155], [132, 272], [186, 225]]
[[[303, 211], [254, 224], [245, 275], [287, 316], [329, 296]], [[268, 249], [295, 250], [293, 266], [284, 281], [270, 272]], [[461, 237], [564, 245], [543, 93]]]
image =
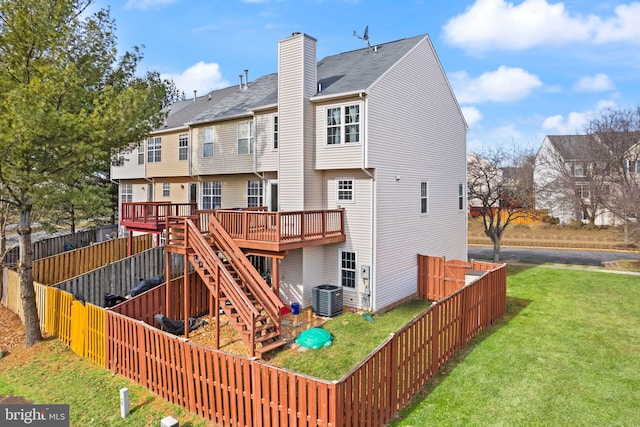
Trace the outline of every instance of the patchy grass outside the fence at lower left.
[[[120, 389], [129, 389], [130, 415], [120, 417]], [[47, 339], [16, 347], [0, 360], [0, 395], [33, 403], [69, 405], [71, 426], [159, 426], [172, 415], [181, 426], [206, 426], [204, 419], [165, 402], [146, 388], [78, 357], [61, 341]]]

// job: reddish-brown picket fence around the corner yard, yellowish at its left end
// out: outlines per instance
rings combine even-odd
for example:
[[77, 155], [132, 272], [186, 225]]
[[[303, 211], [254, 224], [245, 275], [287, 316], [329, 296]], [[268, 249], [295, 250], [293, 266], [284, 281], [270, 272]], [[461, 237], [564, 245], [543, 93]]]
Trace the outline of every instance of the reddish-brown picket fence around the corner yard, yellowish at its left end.
[[[159, 286], [109, 310], [47, 287], [46, 331], [98, 365], [220, 425], [384, 426], [506, 311], [505, 265], [458, 261], [446, 269], [444, 258], [437, 259], [421, 267], [427, 268], [423, 277], [435, 277], [421, 293], [439, 291], [442, 280], [460, 285], [460, 271], [483, 273], [433, 303], [334, 382], [206, 348], [147, 324], [165, 310], [167, 297], [175, 310], [185, 306], [179, 283], [169, 287], [176, 295]], [[193, 316], [208, 297], [201, 282], [190, 293]]]

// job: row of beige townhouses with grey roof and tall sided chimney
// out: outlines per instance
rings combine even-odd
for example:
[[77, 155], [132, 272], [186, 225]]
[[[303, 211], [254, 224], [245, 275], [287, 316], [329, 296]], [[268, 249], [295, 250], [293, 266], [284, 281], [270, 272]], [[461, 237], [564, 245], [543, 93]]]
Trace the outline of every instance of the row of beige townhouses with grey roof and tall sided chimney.
[[316, 40], [294, 33], [278, 59], [172, 106], [141, 157], [112, 168], [121, 201], [341, 209], [342, 241], [263, 253], [282, 301], [302, 306], [330, 284], [345, 306], [385, 310], [415, 295], [417, 254], [466, 259], [467, 126], [429, 37], [317, 62]]

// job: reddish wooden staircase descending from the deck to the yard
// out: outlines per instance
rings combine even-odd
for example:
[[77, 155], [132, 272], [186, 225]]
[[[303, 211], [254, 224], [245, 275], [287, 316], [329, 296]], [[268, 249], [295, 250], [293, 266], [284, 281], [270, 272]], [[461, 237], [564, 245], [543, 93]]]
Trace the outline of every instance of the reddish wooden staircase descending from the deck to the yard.
[[208, 236], [192, 220], [184, 223], [189, 261], [253, 356], [285, 345], [280, 333], [284, 304], [218, 220], [210, 216]]

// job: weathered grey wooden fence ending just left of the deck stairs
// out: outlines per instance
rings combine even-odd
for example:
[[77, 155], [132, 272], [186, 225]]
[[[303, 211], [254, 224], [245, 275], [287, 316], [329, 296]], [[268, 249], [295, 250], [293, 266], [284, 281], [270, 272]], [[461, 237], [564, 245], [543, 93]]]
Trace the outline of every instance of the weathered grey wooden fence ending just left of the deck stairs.
[[[164, 249], [154, 247], [53, 286], [81, 297], [91, 304], [104, 307], [105, 293], [125, 296], [138, 285], [138, 278], [164, 275], [165, 259]], [[172, 277], [183, 273], [182, 256], [171, 254], [170, 262]]]

